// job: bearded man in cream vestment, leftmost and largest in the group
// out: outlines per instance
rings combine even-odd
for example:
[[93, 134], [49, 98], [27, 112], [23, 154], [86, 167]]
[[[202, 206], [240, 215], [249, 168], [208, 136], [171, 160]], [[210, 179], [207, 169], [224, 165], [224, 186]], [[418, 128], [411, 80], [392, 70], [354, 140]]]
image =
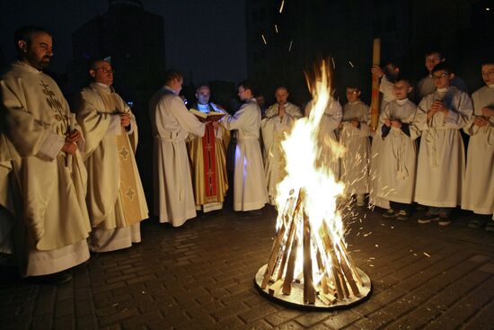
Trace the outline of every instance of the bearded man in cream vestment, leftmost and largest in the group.
[[0, 88], [20, 191], [16, 254], [22, 276], [52, 274], [42, 279], [62, 283], [71, 276], [61, 271], [89, 258], [84, 139], [57, 84], [42, 72], [53, 56], [49, 32], [22, 27], [15, 40], [19, 60]]

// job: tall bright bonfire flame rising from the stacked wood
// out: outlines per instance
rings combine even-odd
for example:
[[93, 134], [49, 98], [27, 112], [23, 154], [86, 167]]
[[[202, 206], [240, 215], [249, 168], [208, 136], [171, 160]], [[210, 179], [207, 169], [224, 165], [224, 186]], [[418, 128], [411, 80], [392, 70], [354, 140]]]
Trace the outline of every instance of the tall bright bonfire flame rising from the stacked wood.
[[[287, 175], [278, 183], [277, 187], [277, 231], [283, 235], [281, 245], [290, 249], [292, 244], [288, 241], [289, 235], [279, 234], [288, 232], [290, 221], [301, 224], [304, 217], [309, 219], [311, 238], [311, 263], [312, 281], [314, 286], [321, 285], [322, 278], [326, 277], [333, 281], [340, 281], [338, 275], [332, 272], [333, 263], [345, 263], [351, 269], [353, 277], [357, 277], [352, 261], [347, 254], [346, 244], [343, 237], [345, 229], [340, 211], [337, 208], [338, 197], [344, 193], [345, 186], [335, 180], [329, 164], [322, 164], [322, 145], [329, 144], [329, 149], [336, 155], [340, 155], [343, 147], [331, 139], [321, 141], [320, 123], [324, 111], [331, 102], [331, 74], [330, 67], [326, 61], [322, 61], [321, 67], [315, 71], [312, 78], [306, 74], [307, 85], [313, 94], [313, 109], [308, 118], [296, 120], [293, 128], [282, 141], [282, 147], [286, 156]], [[319, 140], [318, 140], [319, 139]], [[296, 211], [295, 201], [300, 202]], [[293, 214], [292, 217], [290, 215]], [[304, 226], [297, 226], [295, 231], [296, 240], [302, 242], [304, 239]], [[328, 246], [331, 245], [331, 246]], [[296, 264], [294, 280], [304, 281], [304, 252], [302, 244], [296, 246]], [[328, 251], [331, 251], [328, 252]], [[286, 252], [289, 254], [290, 252]], [[279, 269], [283, 277], [287, 268]], [[340, 270], [342, 269], [339, 266]], [[348, 268], [348, 267], [347, 267]], [[275, 267], [274, 272], [277, 273]], [[352, 276], [350, 275], [350, 276]], [[348, 276], [345, 274], [345, 276]]]

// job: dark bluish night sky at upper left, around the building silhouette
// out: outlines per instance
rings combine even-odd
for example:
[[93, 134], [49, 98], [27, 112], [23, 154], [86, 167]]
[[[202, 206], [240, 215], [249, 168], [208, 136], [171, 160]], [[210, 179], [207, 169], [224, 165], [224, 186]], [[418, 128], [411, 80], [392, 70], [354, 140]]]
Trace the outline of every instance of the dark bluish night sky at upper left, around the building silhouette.
[[[190, 72], [196, 85], [216, 79], [239, 82], [247, 76], [243, 1], [141, 2], [147, 12], [163, 16], [163, 66], [181, 70], [186, 83]], [[55, 48], [49, 68], [64, 73], [72, 59], [72, 32], [107, 9], [106, 0], [0, 0], [0, 48], [10, 62], [15, 58], [13, 31], [17, 27], [47, 28], [53, 33]]]

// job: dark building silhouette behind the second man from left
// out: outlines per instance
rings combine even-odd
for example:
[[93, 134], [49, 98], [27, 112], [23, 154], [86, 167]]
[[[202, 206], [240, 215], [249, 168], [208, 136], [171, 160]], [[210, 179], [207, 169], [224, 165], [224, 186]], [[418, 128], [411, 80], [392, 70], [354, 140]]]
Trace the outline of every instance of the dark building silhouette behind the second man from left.
[[115, 85], [127, 99], [154, 90], [164, 68], [163, 17], [145, 11], [139, 0], [109, 0], [108, 12], [94, 17], [72, 34], [74, 61], [69, 67], [71, 90], [87, 78], [91, 58], [111, 58]]

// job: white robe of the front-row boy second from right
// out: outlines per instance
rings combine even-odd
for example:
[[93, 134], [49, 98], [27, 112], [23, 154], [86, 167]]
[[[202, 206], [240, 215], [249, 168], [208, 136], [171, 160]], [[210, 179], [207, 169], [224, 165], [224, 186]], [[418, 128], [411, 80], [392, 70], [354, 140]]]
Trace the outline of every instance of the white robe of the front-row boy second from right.
[[[436, 112], [431, 120], [427, 111], [442, 101], [447, 115]], [[415, 201], [437, 208], [454, 208], [461, 203], [465, 174], [465, 151], [460, 129], [472, 117], [470, 96], [456, 87], [428, 94], [419, 103], [417, 126], [422, 131], [417, 165]]]

